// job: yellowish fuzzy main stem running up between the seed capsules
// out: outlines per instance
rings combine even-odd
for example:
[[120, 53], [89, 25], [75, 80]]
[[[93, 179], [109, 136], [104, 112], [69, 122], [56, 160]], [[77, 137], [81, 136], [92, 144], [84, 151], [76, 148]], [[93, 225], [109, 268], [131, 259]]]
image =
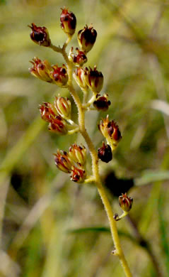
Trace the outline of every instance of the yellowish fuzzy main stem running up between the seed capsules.
[[[68, 38], [68, 40], [66, 40], [66, 43], [64, 45], [67, 45], [70, 39], [71, 38]], [[83, 136], [83, 138], [85, 139], [86, 144], [88, 146], [88, 149], [91, 153], [92, 171], [93, 171], [92, 182], [95, 183], [96, 187], [98, 188], [98, 193], [99, 193], [100, 198], [103, 202], [103, 205], [105, 207], [105, 211], [107, 213], [107, 217], [108, 217], [108, 220], [109, 220], [109, 223], [110, 223], [110, 230], [111, 230], [111, 234], [112, 234], [112, 240], [114, 241], [114, 244], [115, 244], [115, 251], [113, 251], [113, 254], [115, 254], [116, 256], [119, 257], [120, 262], [122, 264], [122, 267], [124, 269], [125, 276], [132, 277], [132, 273], [129, 269], [127, 261], [124, 257], [124, 253], [122, 251], [122, 247], [120, 245], [120, 239], [119, 239], [119, 235], [118, 235], [118, 232], [117, 232], [117, 225], [116, 225], [115, 219], [113, 218], [112, 207], [110, 205], [110, 202], [109, 202], [109, 200], [107, 198], [107, 195], [105, 193], [105, 189], [103, 188], [103, 185], [102, 185], [101, 180], [100, 180], [99, 168], [98, 168], [98, 155], [97, 155], [97, 152], [95, 151], [95, 147], [93, 145], [93, 142], [91, 141], [91, 138], [88, 135], [88, 132], [86, 131], [86, 127], [85, 127], [85, 112], [86, 112], [86, 109], [81, 104], [81, 100], [79, 99], [78, 94], [76, 93], [76, 90], [74, 89], [74, 86], [72, 84], [73, 64], [69, 60], [69, 58], [66, 54], [65, 48], [66, 47], [63, 47], [63, 48], [60, 48], [60, 49], [62, 50], [62, 55], [64, 57], [64, 60], [66, 61], [67, 73], [68, 73], [68, 76], [69, 76], [69, 81], [68, 81], [67, 88], [69, 89], [69, 91], [71, 93], [71, 96], [74, 98], [74, 102], [75, 102], [75, 104], [77, 106], [77, 109], [78, 109], [79, 131], [80, 131], [81, 135]], [[55, 49], [54, 47], [52, 47], [52, 49], [55, 50], [56, 52], [60, 52], [60, 50], [58, 51], [58, 49]]]

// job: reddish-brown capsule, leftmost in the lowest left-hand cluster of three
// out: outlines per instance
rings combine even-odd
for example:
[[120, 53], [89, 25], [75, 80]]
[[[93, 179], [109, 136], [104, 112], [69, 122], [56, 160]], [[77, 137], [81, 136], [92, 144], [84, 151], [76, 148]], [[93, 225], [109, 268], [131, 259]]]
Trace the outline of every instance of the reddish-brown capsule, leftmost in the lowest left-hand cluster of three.
[[54, 156], [54, 162], [57, 165], [57, 168], [65, 173], [70, 173], [72, 164], [68, 153], [66, 153], [66, 151], [61, 152], [57, 150], [57, 153], [54, 154]]

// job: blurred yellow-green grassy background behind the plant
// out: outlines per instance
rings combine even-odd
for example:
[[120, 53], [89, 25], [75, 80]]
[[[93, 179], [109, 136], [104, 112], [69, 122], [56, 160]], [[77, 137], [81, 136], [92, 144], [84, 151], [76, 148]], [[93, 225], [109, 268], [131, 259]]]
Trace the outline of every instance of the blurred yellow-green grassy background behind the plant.
[[[83, 139], [49, 133], [37, 109], [69, 92], [28, 72], [33, 57], [63, 63], [61, 55], [30, 40], [28, 25], [47, 27], [52, 43], [63, 45], [64, 6], [76, 15], [76, 34], [86, 23], [98, 32], [86, 65], [103, 72], [108, 113], [122, 131], [112, 161], [100, 161], [100, 173], [114, 212], [121, 213], [121, 192], [134, 198], [129, 216], [117, 222], [124, 254], [135, 277], [169, 276], [167, 0], [0, 1], [0, 276], [124, 276], [110, 254], [97, 190], [71, 182], [54, 165], [57, 148], [67, 151]], [[73, 112], [76, 120], [74, 104]], [[103, 141], [97, 125], [106, 115], [86, 114], [97, 148]], [[90, 162], [88, 156], [89, 171]]]

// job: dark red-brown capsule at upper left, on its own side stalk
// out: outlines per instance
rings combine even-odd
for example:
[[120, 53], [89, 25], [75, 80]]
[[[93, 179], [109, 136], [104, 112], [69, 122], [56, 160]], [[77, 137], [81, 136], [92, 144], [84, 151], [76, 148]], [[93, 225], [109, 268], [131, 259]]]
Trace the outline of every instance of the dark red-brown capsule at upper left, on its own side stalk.
[[31, 40], [34, 41], [34, 43], [37, 43], [42, 46], [49, 46], [51, 44], [50, 38], [49, 38], [49, 32], [46, 27], [37, 27], [35, 23], [32, 23], [32, 26], [28, 26], [32, 29], [30, 33]]

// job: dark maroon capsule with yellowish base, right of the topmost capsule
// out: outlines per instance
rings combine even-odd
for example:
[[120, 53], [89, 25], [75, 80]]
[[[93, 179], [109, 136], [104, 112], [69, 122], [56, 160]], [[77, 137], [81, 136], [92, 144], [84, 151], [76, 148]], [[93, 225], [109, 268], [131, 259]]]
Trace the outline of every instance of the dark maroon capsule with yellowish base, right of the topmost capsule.
[[84, 53], [88, 53], [88, 51], [93, 48], [97, 37], [97, 32], [92, 26], [85, 26], [82, 30], [78, 31], [78, 45]]

